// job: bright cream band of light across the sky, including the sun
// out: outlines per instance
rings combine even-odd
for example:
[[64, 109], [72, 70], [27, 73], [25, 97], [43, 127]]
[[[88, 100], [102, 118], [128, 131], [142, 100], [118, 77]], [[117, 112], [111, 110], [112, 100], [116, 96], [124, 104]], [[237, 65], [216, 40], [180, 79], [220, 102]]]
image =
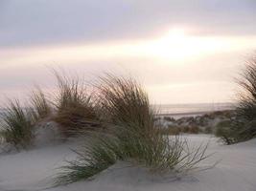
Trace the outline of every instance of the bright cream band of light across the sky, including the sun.
[[[35, 63], [78, 63], [92, 60], [147, 58], [159, 63], [179, 64], [213, 53], [240, 51], [256, 46], [256, 36], [196, 36], [184, 29], [173, 29], [162, 36], [143, 40], [66, 44], [0, 50], [0, 65]], [[11, 56], [11, 54], [15, 56]]]

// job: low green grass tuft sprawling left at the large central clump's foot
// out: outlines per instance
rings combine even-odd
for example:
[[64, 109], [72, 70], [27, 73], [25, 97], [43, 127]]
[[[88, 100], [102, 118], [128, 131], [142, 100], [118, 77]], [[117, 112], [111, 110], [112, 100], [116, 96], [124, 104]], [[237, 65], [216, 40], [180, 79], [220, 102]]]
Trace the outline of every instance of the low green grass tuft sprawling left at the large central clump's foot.
[[56, 185], [68, 184], [78, 180], [91, 179], [96, 174], [113, 165], [118, 159], [123, 158], [122, 150], [116, 140], [105, 135], [97, 138], [86, 138], [86, 144], [81, 151], [74, 151], [78, 159], [67, 161], [61, 167]]

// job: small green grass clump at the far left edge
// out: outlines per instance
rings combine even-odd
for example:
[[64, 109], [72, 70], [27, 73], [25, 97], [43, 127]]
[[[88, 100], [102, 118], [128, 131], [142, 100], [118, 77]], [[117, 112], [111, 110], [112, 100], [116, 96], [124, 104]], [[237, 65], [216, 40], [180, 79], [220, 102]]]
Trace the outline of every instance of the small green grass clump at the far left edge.
[[28, 148], [33, 144], [34, 121], [31, 110], [22, 108], [18, 100], [10, 101], [1, 115], [1, 136], [16, 149]]

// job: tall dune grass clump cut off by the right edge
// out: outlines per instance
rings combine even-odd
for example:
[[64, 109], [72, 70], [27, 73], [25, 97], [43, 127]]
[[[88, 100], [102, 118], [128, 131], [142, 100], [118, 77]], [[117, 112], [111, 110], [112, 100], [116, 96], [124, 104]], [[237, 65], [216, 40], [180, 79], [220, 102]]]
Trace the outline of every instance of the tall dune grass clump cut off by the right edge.
[[226, 144], [256, 138], [256, 57], [246, 63], [238, 84], [242, 87], [236, 118], [217, 131], [217, 136]]

